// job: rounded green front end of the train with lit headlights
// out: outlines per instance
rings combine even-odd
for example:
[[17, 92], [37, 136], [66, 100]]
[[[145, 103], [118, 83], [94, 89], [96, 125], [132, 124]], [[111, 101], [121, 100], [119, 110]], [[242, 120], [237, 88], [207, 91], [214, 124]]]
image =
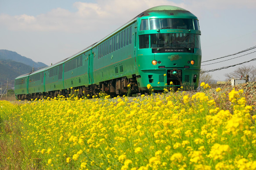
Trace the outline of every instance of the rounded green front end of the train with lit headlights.
[[197, 89], [201, 67], [198, 18], [180, 7], [159, 6], [138, 18], [138, 85], [148, 90], [172, 86]]

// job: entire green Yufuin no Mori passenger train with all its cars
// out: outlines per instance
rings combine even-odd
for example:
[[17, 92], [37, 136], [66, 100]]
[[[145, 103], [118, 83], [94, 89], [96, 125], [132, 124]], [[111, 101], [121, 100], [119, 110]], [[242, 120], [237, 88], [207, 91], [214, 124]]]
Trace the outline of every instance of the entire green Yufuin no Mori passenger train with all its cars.
[[[201, 67], [198, 18], [174, 6], [152, 7], [86, 49], [15, 79], [17, 99], [122, 95], [173, 87], [198, 87]], [[172, 82], [172, 83], [171, 83]]]

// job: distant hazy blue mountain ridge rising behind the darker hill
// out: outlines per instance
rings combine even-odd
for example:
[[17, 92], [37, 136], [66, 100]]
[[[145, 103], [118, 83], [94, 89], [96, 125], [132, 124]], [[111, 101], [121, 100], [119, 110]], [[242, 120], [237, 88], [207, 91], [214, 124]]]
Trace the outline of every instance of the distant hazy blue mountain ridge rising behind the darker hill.
[[43, 64], [41, 62], [35, 62], [30, 58], [21, 56], [20, 54], [14, 52], [14, 51], [9, 51], [9, 50], [0, 50], [0, 60], [14, 60], [16, 62], [20, 62], [26, 65], [29, 65], [31, 67], [47, 67], [46, 64]]

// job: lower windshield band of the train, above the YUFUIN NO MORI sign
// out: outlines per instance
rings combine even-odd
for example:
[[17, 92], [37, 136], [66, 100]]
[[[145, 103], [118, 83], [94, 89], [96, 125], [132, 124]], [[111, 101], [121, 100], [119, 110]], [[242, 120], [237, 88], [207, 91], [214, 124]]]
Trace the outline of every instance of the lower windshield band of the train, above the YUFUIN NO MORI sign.
[[[149, 44], [150, 37], [150, 44]], [[139, 47], [143, 48], [198, 48], [200, 49], [200, 35], [187, 33], [160, 33], [139, 36]]]

